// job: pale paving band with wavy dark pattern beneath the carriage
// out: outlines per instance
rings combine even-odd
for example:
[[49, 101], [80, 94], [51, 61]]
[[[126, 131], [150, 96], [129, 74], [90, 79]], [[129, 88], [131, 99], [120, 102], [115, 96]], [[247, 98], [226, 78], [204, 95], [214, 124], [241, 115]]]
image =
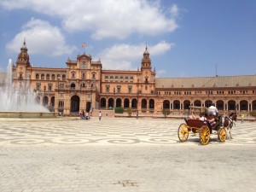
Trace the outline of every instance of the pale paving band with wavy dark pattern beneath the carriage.
[[[177, 119], [98, 119], [63, 121], [0, 121], [2, 144], [180, 144]], [[236, 123], [226, 144], [256, 144], [256, 123]], [[198, 144], [189, 135], [186, 143]], [[211, 143], [218, 143], [212, 135]], [[222, 143], [221, 143], [222, 144]]]

